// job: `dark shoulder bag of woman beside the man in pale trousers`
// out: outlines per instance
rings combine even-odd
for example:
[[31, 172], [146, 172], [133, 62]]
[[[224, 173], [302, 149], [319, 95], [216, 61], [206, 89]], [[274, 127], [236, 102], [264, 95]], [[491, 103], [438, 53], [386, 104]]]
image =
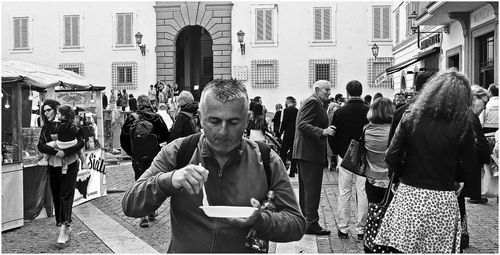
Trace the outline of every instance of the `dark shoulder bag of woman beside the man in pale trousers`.
[[349, 148], [347, 148], [340, 166], [353, 174], [366, 177], [365, 130], [366, 126], [363, 128], [363, 133], [361, 133], [359, 141], [356, 139], [351, 139]]

